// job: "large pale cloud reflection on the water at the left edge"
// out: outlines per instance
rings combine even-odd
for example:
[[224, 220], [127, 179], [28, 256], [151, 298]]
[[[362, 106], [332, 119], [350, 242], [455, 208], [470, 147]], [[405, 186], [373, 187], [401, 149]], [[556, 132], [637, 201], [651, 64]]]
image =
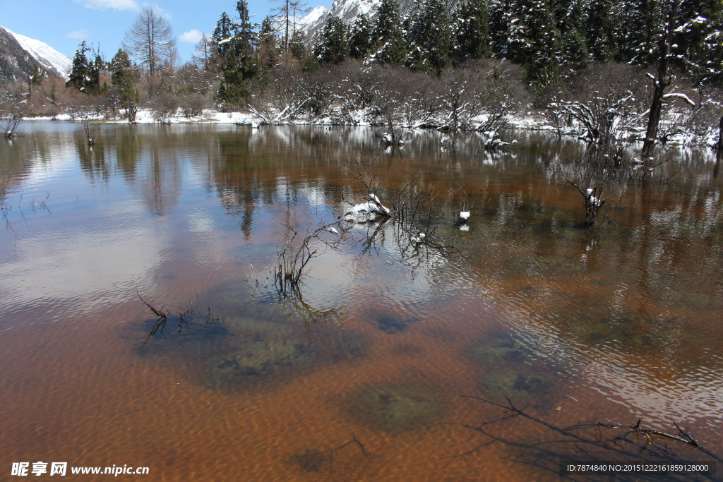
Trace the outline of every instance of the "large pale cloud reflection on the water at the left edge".
[[[138, 203], [116, 205], [110, 219], [140, 210]], [[14, 259], [0, 264], [4, 303], [73, 298], [82, 308], [127, 298], [161, 263], [160, 228], [107, 223], [22, 238]]]

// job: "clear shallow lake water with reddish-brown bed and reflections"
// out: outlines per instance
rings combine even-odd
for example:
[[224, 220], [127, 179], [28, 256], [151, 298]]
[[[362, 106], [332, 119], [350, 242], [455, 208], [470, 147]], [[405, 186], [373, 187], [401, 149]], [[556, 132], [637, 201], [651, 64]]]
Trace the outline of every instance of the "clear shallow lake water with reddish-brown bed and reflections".
[[[460, 395], [509, 395], [561, 426], [679, 421], [721, 451], [723, 182], [707, 152], [677, 152], [670, 185], [620, 188], [615, 225], [590, 233], [576, 227], [578, 194], [549, 174], [581, 146], [545, 137], [489, 155], [475, 137], [443, 150], [422, 132], [388, 155], [364, 128], [103, 126], [92, 150], [80, 125], [19, 134], [0, 145], [4, 467], [556, 478], [505, 444], [450, 458], [474, 441], [439, 423], [496, 416]], [[418, 172], [442, 194], [465, 187], [469, 231], [435, 233], [461, 254], [404, 259], [382, 227], [312, 262], [305, 306], [279, 302], [266, 286], [285, 225], [330, 222], [363, 197], [348, 173], [360, 152], [376, 158], [382, 200]], [[168, 309], [197, 302], [228, 332], [169, 331], [141, 349], [137, 292]], [[367, 452], [351, 444], [335, 467], [313, 465], [353, 436]]]

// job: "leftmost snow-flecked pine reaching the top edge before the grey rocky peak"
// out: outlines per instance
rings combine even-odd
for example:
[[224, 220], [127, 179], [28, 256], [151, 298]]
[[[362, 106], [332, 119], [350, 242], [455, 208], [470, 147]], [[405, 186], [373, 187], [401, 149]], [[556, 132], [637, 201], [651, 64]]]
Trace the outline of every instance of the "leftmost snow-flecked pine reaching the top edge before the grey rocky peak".
[[374, 41], [372, 59], [380, 64], [403, 64], [407, 49], [401, 24], [397, 2], [382, 0], [372, 34]]

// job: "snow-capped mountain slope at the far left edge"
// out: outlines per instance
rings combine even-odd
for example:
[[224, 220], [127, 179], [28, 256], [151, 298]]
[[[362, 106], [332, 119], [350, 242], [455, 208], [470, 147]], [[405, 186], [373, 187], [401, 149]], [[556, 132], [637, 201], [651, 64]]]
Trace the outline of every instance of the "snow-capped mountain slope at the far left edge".
[[0, 82], [32, 75], [36, 67], [48, 75], [67, 78], [71, 66], [71, 59], [47, 43], [0, 27]]

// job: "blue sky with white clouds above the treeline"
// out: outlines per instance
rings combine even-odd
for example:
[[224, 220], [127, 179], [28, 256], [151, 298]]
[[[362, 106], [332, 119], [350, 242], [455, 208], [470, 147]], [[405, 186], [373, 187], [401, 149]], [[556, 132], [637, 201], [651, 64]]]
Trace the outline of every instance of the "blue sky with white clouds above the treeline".
[[[249, 12], [261, 22], [278, 2], [248, 0]], [[331, 0], [307, 0], [309, 7], [329, 7]], [[118, 51], [140, 9], [162, 12], [174, 29], [181, 59], [194, 52], [200, 32], [210, 35], [221, 12], [232, 16], [236, 0], [0, 0], [0, 25], [42, 40], [71, 59], [81, 40], [100, 46], [106, 60]]]

